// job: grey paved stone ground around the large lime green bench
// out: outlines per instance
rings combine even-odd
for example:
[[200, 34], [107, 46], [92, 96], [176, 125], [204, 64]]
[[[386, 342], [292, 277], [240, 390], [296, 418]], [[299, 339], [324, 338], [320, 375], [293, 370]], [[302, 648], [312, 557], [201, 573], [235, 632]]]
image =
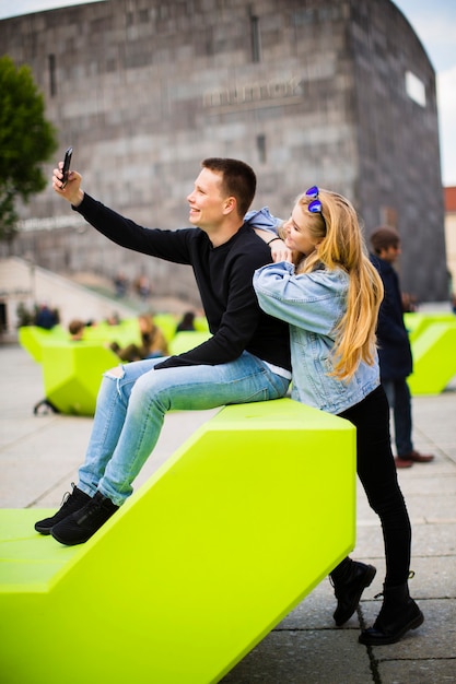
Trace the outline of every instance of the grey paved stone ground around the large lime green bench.
[[[0, 507], [58, 507], [77, 480], [92, 418], [33, 415], [43, 398], [40, 368], [16, 344], [0, 345]], [[137, 484], [213, 413], [168, 414], [154, 457]], [[224, 677], [224, 684], [456, 682], [456, 381], [439, 397], [414, 398], [413, 417], [416, 448], [435, 453], [431, 463], [399, 471], [413, 526], [416, 577], [410, 588], [425, 616], [422, 627], [393, 646], [358, 644], [360, 627], [372, 624], [379, 610], [374, 597], [382, 591], [384, 575], [379, 524], [360, 486], [352, 556], [376, 565], [377, 576], [358, 614], [336, 628], [332, 589], [323, 581]]]

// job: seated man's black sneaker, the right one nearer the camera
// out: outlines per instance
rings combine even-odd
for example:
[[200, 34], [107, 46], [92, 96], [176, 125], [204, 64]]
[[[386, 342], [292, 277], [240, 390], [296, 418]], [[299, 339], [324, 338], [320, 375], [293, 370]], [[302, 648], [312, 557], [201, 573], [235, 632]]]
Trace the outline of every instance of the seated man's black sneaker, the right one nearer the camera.
[[60, 544], [83, 544], [118, 510], [110, 498], [97, 492], [83, 508], [55, 524], [51, 534]]

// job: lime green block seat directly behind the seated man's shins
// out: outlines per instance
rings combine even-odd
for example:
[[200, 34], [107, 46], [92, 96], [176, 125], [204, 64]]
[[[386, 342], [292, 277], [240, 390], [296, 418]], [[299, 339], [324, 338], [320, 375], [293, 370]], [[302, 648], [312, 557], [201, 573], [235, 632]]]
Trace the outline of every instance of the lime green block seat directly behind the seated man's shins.
[[60, 413], [93, 415], [103, 374], [118, 364], [100, 342], [48, 342], [42, 347], [46, 399]]

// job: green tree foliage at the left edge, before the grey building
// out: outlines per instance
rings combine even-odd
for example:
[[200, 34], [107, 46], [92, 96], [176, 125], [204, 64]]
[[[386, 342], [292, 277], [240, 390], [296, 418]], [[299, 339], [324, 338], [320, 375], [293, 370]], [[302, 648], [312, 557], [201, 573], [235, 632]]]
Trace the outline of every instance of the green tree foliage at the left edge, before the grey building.
[[40, 164], [57, 150], [57, 133], [45, 119], [45, 103], [30, 67], [0, 58], [0, 239], [16, 233], [15, 202], [27, 202], [46, 186]]

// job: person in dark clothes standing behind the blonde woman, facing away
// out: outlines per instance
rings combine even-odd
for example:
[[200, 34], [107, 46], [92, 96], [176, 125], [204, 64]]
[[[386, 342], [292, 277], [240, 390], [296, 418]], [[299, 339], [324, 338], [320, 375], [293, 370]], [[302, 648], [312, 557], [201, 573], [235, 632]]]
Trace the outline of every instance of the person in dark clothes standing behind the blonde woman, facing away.
[[407, 377], [413, 361], [409, 335], [404, 322], [402, 295], [399, 278], [394, 269], [400, 255], [397, 231], [382, 226], [371, 235], [371, 261], [377, 269], [385, 290], [378, 315], [377, 340], [382, 385], [393, 410], [395, 425], [396, 468], [433, 460], [430, 453], [420, 453], [412, 441], [412, 411]]

